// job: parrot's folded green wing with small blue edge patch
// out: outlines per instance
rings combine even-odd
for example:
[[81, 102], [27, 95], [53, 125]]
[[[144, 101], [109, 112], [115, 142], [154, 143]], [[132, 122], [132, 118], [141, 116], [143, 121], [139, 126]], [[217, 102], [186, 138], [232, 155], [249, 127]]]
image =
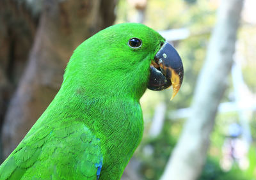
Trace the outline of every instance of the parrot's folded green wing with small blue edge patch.
[[0, 179], [97, 179], [100, 140], [84, 123], [70, 122], [35, 124], [0, 166]]

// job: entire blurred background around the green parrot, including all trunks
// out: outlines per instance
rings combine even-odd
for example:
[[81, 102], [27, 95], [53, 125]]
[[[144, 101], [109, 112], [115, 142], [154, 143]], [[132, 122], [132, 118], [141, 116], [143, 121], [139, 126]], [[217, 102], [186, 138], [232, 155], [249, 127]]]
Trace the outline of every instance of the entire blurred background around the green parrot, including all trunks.
[[141, 98], [143, 140], [122, 179], [256, 179], [255, 0], [1, 0], [1, 161], [61, 86], [74, 49], [122, 22], [173, 44], [184, 80]]

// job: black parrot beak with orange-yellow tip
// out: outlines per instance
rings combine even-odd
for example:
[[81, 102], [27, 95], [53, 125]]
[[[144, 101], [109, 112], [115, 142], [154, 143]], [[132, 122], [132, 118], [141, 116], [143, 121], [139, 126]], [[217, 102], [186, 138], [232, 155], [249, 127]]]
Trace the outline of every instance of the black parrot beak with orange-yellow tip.
[[183, 64], [177, 50], [166, 42], [150, 64], [148, 89], [161, 91], [173, 86], [172, 100], [179, 92], [183, 73]]

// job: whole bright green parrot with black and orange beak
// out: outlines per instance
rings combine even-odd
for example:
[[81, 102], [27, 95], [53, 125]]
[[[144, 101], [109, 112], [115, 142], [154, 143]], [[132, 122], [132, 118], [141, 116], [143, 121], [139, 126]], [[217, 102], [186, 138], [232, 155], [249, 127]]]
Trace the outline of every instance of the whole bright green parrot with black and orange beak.
[[141, 96], [170, 86], [175, 96], [182, 79], [179, 54], [153, 29], [100, 31], [74, 51], [60, 91], [0, 179], [120, 179], [143, 135]]

